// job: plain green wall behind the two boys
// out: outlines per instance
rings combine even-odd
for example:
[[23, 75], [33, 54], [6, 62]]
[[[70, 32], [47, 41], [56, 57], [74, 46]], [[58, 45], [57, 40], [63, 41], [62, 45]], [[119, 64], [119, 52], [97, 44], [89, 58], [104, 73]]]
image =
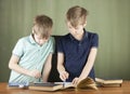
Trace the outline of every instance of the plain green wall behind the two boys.
[[12, 50], [17, 39], [30, 35], [34, 17], [50, 16], [52, 35], [65, 35], [65, 13], [73, 5], [89, 11], [86, 29], [99, 33], [96, 77], [130, 79], [129, 4], [130, 0], [0, 0], [0, 82], [9, 80]]

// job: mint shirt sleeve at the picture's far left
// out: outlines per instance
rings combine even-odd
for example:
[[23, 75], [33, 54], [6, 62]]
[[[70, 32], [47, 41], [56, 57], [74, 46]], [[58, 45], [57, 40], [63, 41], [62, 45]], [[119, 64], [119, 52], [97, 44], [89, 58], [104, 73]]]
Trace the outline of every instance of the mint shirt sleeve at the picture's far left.
[[17, 41], [16, 45], [12, 51], [12, 54], [17, 55], [18, 57], [21, 57], [24, 54], [24, 43], [22, 39]]

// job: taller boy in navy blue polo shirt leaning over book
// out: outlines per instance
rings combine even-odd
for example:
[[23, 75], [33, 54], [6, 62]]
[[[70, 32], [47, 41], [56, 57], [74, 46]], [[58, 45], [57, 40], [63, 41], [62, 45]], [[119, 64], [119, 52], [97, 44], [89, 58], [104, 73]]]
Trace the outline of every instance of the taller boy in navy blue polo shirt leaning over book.
[[94, 79], [93, 64], [98, 53], [99, 36], [84, 29], [87, 10], [73, 6], [66, 13], [69, 33], [57, 45], [57, 70], [63, 81], [77, 84], [82, 79]]

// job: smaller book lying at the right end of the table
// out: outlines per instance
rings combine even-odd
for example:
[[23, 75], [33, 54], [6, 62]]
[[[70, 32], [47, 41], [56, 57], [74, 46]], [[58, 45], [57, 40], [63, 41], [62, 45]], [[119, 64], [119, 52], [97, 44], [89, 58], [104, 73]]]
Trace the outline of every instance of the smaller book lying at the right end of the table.
[[95, 78], [95, 81], [101, 86], [121, 86], [121, 83], [122, 83], [122, 79], [101, 79], [101, 78]]

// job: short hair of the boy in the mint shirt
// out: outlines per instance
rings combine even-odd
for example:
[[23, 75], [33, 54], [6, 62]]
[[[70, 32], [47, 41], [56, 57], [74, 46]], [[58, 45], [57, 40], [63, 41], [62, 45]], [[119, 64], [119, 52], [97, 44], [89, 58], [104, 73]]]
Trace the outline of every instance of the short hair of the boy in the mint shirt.
[[48, 39], [52, 29], [53, 22], [47, 15], [37, 15], [34, 21], [34, 32]]

